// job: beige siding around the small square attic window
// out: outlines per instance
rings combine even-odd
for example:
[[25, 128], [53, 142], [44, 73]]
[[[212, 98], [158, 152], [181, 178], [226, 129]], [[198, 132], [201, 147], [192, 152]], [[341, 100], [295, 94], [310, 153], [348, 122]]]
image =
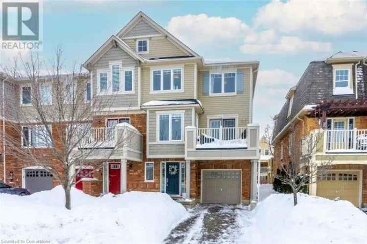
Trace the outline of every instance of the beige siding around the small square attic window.
[[[124, 42], [128, 44], [134, 51], [137, 49], [136, 39], [126, 39]], [[140, 55], [144, 58], [157, 58], [185, 56], [187, 54], [175, 46], [167, 38], [153, 37], [149, 39], [149, 53], [141, 53]]]

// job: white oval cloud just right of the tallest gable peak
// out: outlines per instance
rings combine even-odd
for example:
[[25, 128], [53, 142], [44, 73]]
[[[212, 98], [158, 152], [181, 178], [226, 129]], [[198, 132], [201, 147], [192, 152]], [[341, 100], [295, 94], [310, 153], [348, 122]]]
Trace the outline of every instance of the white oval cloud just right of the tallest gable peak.
[[167, 29], [189, 45], [227, 44], [229, 40], [243, 37], [249, 29], [237, 18], [208, 17], [206, 14], [173, 17]]

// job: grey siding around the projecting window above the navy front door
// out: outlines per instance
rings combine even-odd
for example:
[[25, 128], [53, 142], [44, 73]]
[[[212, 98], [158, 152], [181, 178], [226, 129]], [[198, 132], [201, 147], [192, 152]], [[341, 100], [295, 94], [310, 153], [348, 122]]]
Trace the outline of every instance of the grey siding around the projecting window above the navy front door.
[[[170, 109], [169, 111], [172, 111]], [[183, 109], [179, 109], [183, 110]], [[156, 111], [162, 110], [149, 110], [149, 155], [184, 155], [184, 144], [150, 144], [151, 142], [157, 142], [157, 113]], [[192, 109], [184, 109], [184, 127], [192, 126]], [[184, 138], [184, 132], [182, 132]]]

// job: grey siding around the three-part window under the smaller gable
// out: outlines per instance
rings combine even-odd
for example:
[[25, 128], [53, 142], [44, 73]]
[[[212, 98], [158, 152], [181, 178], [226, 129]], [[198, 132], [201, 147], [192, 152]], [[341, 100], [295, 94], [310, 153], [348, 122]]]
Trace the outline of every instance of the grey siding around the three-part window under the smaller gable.
[[[109, 62], [122, 62], [123, 67], [135, 67], [134, 69], [134, 94], [117, 94], [100, 96], [101, 99], [108, 101], [113, 108], [132, 108], [138, 106], [138, 67], [137, 61], [127, 54], [120, 47], [111, 47], [96, 63], [93, 64], [93, 96], [97, 94], [97, 70], [109, 69]], [[109, 70], [109, 72], [111, 72]], [[108, 73], [110, 76], [111, 73]], [[123, 75], [121, 72], [120, 75]], [[108, 78], [110, 79], [110, 77]], [[108, 100], [107, 100], [108, 99]], [[99, 101], [98, 99], [96, 99]]]

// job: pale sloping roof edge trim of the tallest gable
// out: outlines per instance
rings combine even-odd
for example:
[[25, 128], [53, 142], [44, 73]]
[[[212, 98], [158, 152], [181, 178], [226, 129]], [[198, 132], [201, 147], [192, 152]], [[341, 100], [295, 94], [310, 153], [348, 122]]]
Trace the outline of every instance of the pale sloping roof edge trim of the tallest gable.
[[199, 54], [197, 54], [194, 50], [186, 46], [183, 42], [178, 40], [176, 37], [174, 37], [171, 33], [169, 33], [167, 30], [165, 30], [161, 25], [159, 25], [157, 22], [149, 18], [146, 14], [144, 14], [142, 11], [139, 11], [138, 14], [130, 21], [128, 22], [119, 32], [117, 32], [116, 36], [123, 36], [127, 34], [140, 20], [144, 20], [148, 24], [150, 24], [154, 29], [156, 29], [158, 32], [166, 35], [172, 40], [173, 44], [176, 44], [180, 49], [182, 49], [187, 54], [190, 54], [192, 56], [200, 57]]

